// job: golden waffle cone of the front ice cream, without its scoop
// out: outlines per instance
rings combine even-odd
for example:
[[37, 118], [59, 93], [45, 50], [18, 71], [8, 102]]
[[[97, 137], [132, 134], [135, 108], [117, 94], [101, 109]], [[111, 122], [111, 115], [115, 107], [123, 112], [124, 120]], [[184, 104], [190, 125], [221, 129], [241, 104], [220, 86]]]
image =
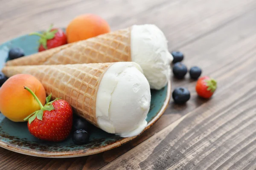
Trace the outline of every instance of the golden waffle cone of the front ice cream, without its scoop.
[[97, 126], [97, 91], [105, 71], [112, 64], [7, 66], [2, 71], [7, 77], [15, 74], [35, 76], [47, 94], [52, 92], [54, 98], [66, 100], [80, 116]]

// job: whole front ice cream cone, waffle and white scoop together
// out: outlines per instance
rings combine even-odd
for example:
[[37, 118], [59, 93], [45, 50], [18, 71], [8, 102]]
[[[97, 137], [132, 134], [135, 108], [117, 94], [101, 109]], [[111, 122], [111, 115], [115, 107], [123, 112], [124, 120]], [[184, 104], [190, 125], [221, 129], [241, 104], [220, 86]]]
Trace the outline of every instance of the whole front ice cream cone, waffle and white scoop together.
[[8, 66], [2, 71], [36, 76], [48, 94], [66, 100], [79, 116], [108, 133], [137, 136], [147, 126], [150, 87], [135, 62]]

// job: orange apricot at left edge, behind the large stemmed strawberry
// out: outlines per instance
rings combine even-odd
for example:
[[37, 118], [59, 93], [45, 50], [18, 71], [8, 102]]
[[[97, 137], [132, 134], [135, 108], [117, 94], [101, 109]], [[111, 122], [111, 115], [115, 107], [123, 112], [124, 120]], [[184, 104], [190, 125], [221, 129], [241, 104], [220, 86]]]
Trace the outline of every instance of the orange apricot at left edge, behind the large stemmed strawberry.
[[23, 86], [27, 85], [42, 104], [45, 104], [46, 93], [41, 82], [28, 74], [17, 74], [10, 77], [0, 88], [0, 111], [14, 122], [24, 122], [24, 118], [40, 109], [38, 102]]

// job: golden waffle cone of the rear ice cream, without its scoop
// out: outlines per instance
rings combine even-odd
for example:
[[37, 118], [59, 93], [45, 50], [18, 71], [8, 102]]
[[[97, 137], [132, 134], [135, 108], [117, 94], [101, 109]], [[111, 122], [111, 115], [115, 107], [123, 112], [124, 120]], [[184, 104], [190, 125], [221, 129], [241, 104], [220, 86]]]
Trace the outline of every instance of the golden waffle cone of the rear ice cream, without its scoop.
[[6, 65], [57, 65], [131, 61], [131, 29], [102, 34], [8, 61]]

